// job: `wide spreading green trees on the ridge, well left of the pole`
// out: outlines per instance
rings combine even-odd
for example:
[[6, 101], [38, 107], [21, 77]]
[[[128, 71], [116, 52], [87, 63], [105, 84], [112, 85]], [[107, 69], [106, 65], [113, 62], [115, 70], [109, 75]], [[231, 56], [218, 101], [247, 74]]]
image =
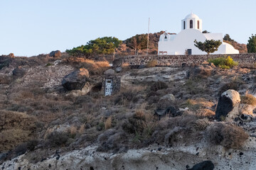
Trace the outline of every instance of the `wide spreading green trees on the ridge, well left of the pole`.
[[114, 37], [97, 38], [90, 40], [87, 45], [74, 47], [72, 50], [66, 50], [70, 55], [85, 55], [89, 57], [92, 54], [110, 55], [122, 43], [122, 40]]

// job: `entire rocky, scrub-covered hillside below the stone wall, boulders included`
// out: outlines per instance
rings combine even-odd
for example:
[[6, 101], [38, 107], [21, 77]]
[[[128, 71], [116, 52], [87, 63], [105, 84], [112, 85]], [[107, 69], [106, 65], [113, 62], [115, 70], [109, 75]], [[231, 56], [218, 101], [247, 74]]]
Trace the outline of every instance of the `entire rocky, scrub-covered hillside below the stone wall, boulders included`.
[[255, 169], [255, 73], [1, 56], [0, 169]]

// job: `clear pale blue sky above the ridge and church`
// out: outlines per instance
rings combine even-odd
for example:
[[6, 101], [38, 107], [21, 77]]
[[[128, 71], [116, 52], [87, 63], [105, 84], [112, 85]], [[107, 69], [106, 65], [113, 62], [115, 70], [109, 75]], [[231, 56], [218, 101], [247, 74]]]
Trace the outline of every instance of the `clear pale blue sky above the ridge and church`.
[[256, 33], [255, 0], [0, 0], [0, 55], [65, 51], [103, 36], [181, 31], [191, 12], [203, 30], [247, 43]]

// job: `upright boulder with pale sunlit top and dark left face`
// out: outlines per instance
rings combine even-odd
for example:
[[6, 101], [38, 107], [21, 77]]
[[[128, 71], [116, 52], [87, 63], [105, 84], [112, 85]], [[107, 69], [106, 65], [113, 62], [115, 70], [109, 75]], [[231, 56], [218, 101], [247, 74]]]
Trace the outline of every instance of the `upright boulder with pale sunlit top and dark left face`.
[[240, 94], [235, 90], [228, 90], [218, 99], [215, 116], [218, 120], [232, 121], [239, 116]]

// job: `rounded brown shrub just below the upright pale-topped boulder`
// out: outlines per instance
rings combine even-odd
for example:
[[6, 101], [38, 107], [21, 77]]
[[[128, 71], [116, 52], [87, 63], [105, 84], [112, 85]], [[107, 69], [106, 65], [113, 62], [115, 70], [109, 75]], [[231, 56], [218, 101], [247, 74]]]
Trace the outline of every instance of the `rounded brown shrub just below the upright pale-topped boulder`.
[[215, 123], [206, 130], [206, 137], [213, 145], [222, 145], [226, 148], [240, 149], [249, 135], [236, 125]]

